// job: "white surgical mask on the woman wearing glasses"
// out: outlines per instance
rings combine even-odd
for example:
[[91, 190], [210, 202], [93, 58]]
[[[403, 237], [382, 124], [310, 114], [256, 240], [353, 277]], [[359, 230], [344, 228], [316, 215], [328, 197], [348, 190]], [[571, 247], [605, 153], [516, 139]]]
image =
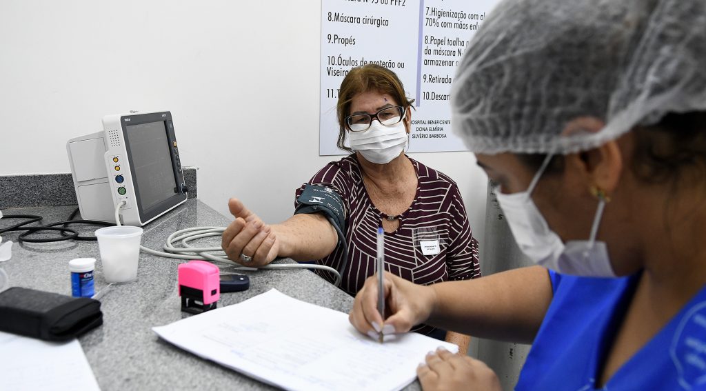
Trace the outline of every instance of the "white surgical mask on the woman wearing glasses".
[[404, 121], [390, 126], [373, 121], [366, 131], [349, 131], [348, 140], [353, 150], [360, 152], [369, 162], [377, 164], [389, 163], [400, 156], [409, 142]]

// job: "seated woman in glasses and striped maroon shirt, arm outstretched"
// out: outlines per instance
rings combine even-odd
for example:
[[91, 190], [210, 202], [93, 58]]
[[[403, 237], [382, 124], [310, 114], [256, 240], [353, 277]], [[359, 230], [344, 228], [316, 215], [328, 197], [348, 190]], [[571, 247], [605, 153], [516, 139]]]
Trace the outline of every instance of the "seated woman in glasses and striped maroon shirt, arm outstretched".
[[[297, 190], [295, 215], [267, 225], [236, 199], [236, 217], [223, 234], [229, 258], [248, 266], [275, 257], [316, 260], [342, 274], [340, 287], [356, 294], [373, 275], [376, 234], [385, 235], [385, 270], [415, 284], [480, 276], [478, 243], [454, 181], [405, 155], [412, 102], [392, 71], [354, 68], [341, 83], [338, 146], [348, 136], [354, 153], [331, 162]], [[328, 205], [328, 207], [326, 207]], [[334, 281], [330, 272], [317, 271]], [[419, 332], [443, 337], [420, 325]], [[468, 337], [445, 333], [467, 351]]]

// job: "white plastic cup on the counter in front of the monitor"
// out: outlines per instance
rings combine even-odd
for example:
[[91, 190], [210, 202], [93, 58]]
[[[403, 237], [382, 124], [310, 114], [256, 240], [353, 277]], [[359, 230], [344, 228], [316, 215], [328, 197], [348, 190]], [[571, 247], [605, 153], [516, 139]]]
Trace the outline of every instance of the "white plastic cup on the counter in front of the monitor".
[[106, 282], [129, 282], [137, 278], [142, 228], [121, 225], [97, 229], [100, 263]]

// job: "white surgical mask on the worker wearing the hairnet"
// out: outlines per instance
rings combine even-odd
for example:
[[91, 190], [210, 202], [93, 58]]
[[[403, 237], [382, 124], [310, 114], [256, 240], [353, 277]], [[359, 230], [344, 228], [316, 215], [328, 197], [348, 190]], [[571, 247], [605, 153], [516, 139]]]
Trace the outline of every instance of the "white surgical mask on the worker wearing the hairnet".
[[517, 245], [537, 265], [566, 275], [584, 277], [615, 277], [606, 243], [596, 241], [598, 226], [603, 215], [605, 200], [599, 199], [598, 209], [593, 220], [588, 240], [574, 240], [563, 243], [549, 228], [542, 213], [532, 201], [532, 191], [539, 177], [551, 160], [547, 155], [534, 175], [530, 186], [520, 193], [503, 194], [496, 192], [498, 203], [508, 219], [510, 231]]

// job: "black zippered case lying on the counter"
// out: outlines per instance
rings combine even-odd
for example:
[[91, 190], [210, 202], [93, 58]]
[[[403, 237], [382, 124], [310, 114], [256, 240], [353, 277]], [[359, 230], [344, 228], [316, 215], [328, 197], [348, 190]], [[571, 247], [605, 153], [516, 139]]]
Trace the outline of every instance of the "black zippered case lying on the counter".
[[0, 331], [66, 341], [103, 324], [100, 301], [20, 287], [0, 293]]

